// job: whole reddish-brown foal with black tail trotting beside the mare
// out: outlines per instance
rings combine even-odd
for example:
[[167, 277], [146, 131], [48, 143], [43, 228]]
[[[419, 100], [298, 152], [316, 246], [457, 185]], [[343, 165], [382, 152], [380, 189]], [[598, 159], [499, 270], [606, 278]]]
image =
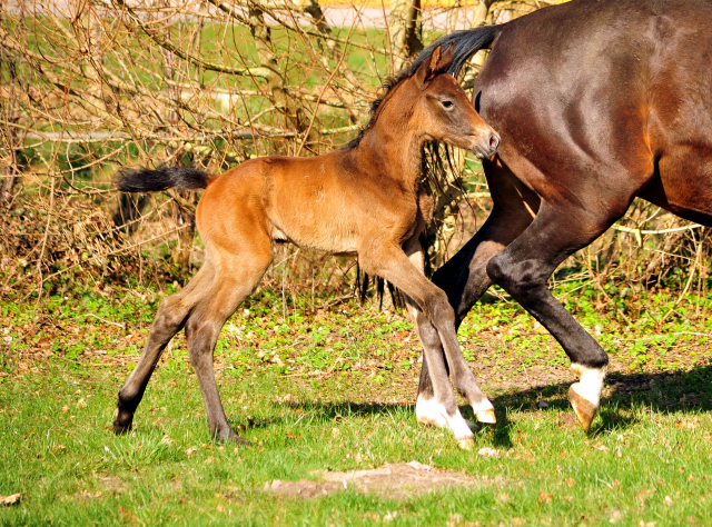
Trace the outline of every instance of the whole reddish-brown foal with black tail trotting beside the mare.
[[[452, 49], [442, 54], [438, 49], [419, 68], [403, 73], [362, 136], [340, 150], [312, 158], [254, 159], [217, 177], [186, 168], [119, 175], [117, 188], [127, 192], [205, 188], [197, 222], [206, 260], [185, 289], [161, 302], [141, 358], [119, 391], [117, 434], [131, 427], [161, 351], [185, 327], [210, 436], [245, 443], [225, 415], [212, 354], [222, 325], [255, 290], [280, 240], [358, 255], [365, 272], [400, 289], [416, 325], [427, 319], [435, 328], [451, 374], [459, 379], [456, 388], [481, 421], [493, 422], [492, 404], [462, 358], [447, 296], [423, 275], [418, 242], [432, 209], [421, 183], [424, 145], [445, 141], [490, 157], [500, 141], [455, 78], [445, 73], [452, 57]], [[436, 404], [418, 420], [448, 426], [463, 448], [474, 445], [442, 352], [428, 354], [426, 360]]]

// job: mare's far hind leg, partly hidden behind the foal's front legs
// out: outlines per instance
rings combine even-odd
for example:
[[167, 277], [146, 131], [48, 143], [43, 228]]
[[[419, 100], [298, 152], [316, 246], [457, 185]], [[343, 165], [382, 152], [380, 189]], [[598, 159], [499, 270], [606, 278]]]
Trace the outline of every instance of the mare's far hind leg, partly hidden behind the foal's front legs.
[[[486, 272], [490, 259], [528, 227], [540, 205], [538, 196], [525, 187], [498, 158], [495, 158], [495, 161], [484, 161], [483, 166], [494, 201], [492, 213], [465, 247], [433, 277], [433, 282], [447, 294], [451, 306], [455, 310], [455, 328], [459, 327], [467, 312], [492, 285]], [[429, 321], [422, 320], [419, 332], [427, 335], [428, 327], [432, 332], [434, 328]], [[437, 335], [433, 339], [422, 340], [426, 348], [442, 349]], [[455, 387], [467, 399], [466, 391], [459, 389], [459, 386], [466, 382], [467, 379], [464, 381], [454, 379]], [[435, 411], [433, 399], [429, 365], [424, 360], [415, 407], [419, 422], [434, 422], [437, 419], [438, 412]], [[467, 399], [467, 402], [473, 407], [477, 420], [495, 421], [493, 411], [483, 410], [475, 400]]]

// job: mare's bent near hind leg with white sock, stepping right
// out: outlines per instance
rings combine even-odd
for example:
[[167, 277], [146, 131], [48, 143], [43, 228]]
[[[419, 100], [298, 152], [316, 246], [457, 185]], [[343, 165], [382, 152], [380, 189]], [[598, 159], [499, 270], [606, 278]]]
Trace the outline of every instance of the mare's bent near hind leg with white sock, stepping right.
[[487, 274], [544, 326], [564, 348], [580, 382], [568, 398], [585, 431], [600, 406], [609, 357], [547, 287], [548, 277], [571, 253], [587, 246], [623, 216], [630, 200], [599, 196], [589, 210], [543, 202], [532, 225], [487, 264]]

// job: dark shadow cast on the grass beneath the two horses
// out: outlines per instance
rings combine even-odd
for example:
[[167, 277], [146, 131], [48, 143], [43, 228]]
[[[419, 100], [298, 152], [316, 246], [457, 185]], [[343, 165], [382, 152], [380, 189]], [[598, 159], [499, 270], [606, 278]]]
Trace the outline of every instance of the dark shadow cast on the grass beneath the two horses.
[[[576, 429], [577, 420], [566, 397], [571, 382], [541, 385], [526, 389], [515, 389], [493, 398], [497, 422], [494, 428], [494, 444], [501, 448], [513, 446], [512, 430], [514, 422], [508, 419], [513, 410], [531, 412], [558, 414], [560, 426]], [[546, 400], [546, 408], [538, 400]], [[303, 408], [325, 420], [338, 420], [342, 417], [367, 417], [377, 414], [388, 415], [405, 411], [415, 414], [415, 405], [378, 404], [352, 401], [290, 401], [273, 402], [277, 407]], [[646, 407], [659, 414], [676, 414], [680, 411], [699, 414], [712, 411], [712, 365], [695, 366], [686, 371], [662, 371], [656, 374], [612, 372], [606, 377], [604, 397], [599, 417], [590, 431], [599, 436], [614, 430], [624, 430], [637, 422], [636, 408]], [[474, 416], [468, 406], [461, 407], [466, 419]], [[256, 426], [259, 426], [256, 424]], [[265, 426], [265, 424], [261, 424]]]

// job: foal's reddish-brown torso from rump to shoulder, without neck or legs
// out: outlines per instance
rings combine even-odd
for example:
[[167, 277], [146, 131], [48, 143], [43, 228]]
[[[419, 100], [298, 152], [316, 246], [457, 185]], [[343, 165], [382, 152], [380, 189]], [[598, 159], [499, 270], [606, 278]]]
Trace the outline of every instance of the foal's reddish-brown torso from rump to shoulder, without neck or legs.
[[415, 196], [404, 200], [390, 192], [383, 170], [360, 153], [345, 148], [248, 160], [210, 182], [198, 206], [199, 230], [218, 238], [258, 231], [304, 248], [355, 253], [364, 236], [389, 230], [417, 209]]

